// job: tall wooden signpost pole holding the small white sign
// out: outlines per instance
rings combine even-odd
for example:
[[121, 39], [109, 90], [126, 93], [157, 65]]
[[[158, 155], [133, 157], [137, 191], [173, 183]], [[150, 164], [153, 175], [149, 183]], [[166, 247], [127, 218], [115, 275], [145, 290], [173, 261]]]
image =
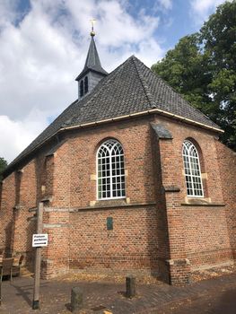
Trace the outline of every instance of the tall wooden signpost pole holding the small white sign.
[[[43, 203], [39, 203], [37, 208], [37, 233], [42, 233]], [[36, 248], [35, 266], [34, 266], [34, 289], [32, 309], [39, 309], [39, 285], [40, 285], [40, 267], [41, 266], [41, 248]]]

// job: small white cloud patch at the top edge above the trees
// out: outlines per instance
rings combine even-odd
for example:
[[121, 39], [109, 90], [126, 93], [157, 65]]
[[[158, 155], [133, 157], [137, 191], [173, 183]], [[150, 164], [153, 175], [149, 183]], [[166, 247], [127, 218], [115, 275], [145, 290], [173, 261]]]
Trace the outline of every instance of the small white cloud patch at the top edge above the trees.
[[190, 14], [194, 17], [197, 24], [202, 24], [207, 20], [209, 14], [213, 13], [219, 4], [224, 2], [225, 0], [191, 0]]

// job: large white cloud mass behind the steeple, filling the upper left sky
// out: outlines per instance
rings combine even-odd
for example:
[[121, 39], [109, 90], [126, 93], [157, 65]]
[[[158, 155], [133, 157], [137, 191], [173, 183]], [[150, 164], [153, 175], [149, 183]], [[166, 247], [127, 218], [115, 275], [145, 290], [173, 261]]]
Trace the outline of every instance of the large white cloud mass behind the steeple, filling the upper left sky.
[[140, 9], [136, 19], [127, 0], [31, 0], [24, 10], [20, 3], [0, 2], [0, 156], [8, 161], [77, 98], [74, 78], [83, 69], [92, 17], [106, 70], [132, 54], [149, 66], [163, 56], [154, 40], [158, 16]]

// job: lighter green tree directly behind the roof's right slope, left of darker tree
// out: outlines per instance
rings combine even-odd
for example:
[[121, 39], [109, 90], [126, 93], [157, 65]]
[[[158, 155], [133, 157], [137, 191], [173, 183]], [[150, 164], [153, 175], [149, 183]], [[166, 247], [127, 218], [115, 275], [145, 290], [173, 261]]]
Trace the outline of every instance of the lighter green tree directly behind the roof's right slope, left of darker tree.
[[212, 73], [200, 44], [197, 33], [179, 39], [175, 48], [169, 50], [152, 69], [192, 105], [206, 113], [212, 102], [207, 89], [212, 82]]

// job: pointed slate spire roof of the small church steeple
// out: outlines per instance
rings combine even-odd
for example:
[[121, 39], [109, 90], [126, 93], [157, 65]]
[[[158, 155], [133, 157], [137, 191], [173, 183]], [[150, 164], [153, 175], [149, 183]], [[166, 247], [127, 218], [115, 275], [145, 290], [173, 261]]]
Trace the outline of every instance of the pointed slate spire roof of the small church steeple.
[[89, 71], [97, 72], [103, 74], [104, 76], [108, 74], [107, 71], [105, 71], [101, 66], [100, 57], [93, 36], [91, 38], [90, 48], [86, 57], [83, 71], [76, 77], [75, 81], [79, 81], [83, 77], [83, 75], [88, 73]]

